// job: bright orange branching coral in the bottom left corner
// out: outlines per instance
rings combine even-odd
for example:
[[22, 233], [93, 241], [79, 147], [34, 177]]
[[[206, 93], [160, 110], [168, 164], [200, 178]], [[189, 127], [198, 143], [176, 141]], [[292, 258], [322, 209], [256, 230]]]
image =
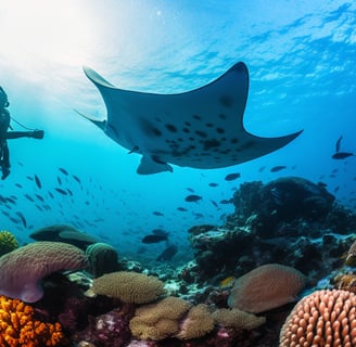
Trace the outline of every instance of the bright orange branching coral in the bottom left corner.
[[0, 346], [64, 346], [66, 339], [60, 323], [35, 319], [33, 307], [18, 299], [0, 296]]

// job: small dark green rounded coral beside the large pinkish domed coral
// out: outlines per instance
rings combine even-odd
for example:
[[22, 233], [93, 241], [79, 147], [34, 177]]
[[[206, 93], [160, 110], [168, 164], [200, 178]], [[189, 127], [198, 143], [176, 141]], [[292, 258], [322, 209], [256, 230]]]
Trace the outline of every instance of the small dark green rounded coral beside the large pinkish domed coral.
[[107, 243], [97, 242], [89, 245], [86, 249], [86, 257], [88, 259], [88, 271], [94, 278], [118, 270], [117, 252]]

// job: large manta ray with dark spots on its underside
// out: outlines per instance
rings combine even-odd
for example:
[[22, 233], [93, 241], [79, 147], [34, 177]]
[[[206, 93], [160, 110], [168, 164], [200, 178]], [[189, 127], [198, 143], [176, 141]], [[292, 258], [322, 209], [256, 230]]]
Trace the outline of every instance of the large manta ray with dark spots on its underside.
[[140, 175], [173, 171], [171, 164], [200, 169], [237, 165], [277, 151], [303, 131], [262, 138], [245, 130], [249, 70], [242, 62], [204, 87], [176, 94], [123, 90], [89, 67], [84, 72], [101, 93], [107, 117], [81, 115], [142, 156]]

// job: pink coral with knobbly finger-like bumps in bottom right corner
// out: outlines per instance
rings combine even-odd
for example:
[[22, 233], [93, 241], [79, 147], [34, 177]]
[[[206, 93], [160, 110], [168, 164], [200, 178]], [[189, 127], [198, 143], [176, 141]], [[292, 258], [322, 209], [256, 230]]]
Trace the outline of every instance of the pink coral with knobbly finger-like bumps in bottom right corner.
[[279, 346], [356, 346], [356, 295], [333, 290], [304, 297], [287, 318]]

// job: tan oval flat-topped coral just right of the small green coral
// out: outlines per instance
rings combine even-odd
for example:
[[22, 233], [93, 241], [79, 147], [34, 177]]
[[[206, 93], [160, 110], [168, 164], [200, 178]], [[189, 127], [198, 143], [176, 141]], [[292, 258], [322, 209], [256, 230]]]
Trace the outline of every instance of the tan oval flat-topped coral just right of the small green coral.
[[97, 295], [115, 297], [124, 303], [147, 304], [165, 293], [164, 283], [153, 275], [117, 271], [94, 279], [90, 288]]

